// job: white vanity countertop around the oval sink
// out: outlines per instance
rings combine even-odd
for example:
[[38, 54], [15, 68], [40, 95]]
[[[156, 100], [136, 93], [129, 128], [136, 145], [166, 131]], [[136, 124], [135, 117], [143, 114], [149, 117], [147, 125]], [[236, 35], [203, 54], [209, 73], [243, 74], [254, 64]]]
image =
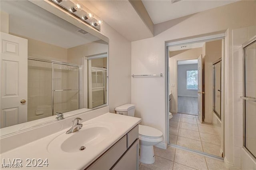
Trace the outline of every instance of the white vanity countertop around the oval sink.
[[[111, 134], [107, 137], [107, 140], [105, 140], [104, 144], [101, 143], [99, 145], [95, 145], [94, 148], [86, 148], [86, 150], [81, 152], [64, 152], [62, 150], [59, 150], [58, 152], [49, 152], [48, 145], [52, 140], [61, 134], [64, 134], [68, 130], [64, 129], [60, 132], [51, 134], [50, 136], [46, 136], [29, 144], [2, 153], [1, 164], [3, 163], [3, 159], [5, 160], [5, 163], [8, 164], [8, 159], [12, 161], [14, 158], [20, 158], [22, 159], [23, 167], [18, 169], [84, 170], [94, 160], [96, 160], [100, 155], [108, 150], [114, 143], [122, 138], [122, 136], [129, 132], [134, 126], [136, 126], [140, 121], [140, 118], [106, 113], [96, 118], [82, 122], [82, 124], [85, 126], [86, 124], [92, 124], [96, 122], [112, 124], [113, 132], [111, 132]], [[70, 127], [71, 125], [72, 122], [70, 122]], [[28, 163], [26, 161], [27, 158], [41, 158], [42, 160], [48, 159], [48, 167], [26, 167], [26, 164]]]

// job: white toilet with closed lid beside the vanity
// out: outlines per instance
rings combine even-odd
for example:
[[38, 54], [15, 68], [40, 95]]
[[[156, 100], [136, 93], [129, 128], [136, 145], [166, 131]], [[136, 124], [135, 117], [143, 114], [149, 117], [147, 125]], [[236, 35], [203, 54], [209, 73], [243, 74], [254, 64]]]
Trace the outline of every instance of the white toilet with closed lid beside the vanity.
[[[134, 116], [135, 105], [124, 104], [116, 107], [116, 114]], [[164, 140], [163, 133], [150, 126], [139, 125], [140, 139], [140, 162], [144, 164], [153, 164], [155, 162], [153, 146]]]

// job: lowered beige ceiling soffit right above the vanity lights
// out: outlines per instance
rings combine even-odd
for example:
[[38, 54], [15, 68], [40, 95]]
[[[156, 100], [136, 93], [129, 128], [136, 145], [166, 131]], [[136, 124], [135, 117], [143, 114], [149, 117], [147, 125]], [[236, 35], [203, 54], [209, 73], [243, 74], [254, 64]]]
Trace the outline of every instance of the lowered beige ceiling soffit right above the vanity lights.
[[[153, 32], [150, 31], [147, 24], [145, 24], [144, 18], [140, 16], [129, 0], [79, 1], [127, 40], [135, 41], [153, 37]], [[149, 16], [148, 18], [150, 20]], [[150, 22], [152, 21], [150, 20]]]

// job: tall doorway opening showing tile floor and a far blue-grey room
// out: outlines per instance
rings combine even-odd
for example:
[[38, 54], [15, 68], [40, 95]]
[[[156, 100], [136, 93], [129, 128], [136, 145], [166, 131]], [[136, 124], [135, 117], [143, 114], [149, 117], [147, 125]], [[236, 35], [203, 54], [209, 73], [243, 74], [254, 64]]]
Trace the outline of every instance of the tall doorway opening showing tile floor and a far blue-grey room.
[[[171, 146], [223, 159], [224, 113], [219, 105], [221, 118], [214, 112], [212, 90], [215, 82], [223, 82], [219, 80], [221, 76], [214, 79], [213, 67], [216, 60], [224, 57], [223, 49], [223, 38], [167, 46]], [[222, 70], [223, 67], [218, 75], [223, 74]], [[224, 84], [218, 86], [221, 89]], [[216, 101], [222, 105], [222, 94], [218, 97]]]

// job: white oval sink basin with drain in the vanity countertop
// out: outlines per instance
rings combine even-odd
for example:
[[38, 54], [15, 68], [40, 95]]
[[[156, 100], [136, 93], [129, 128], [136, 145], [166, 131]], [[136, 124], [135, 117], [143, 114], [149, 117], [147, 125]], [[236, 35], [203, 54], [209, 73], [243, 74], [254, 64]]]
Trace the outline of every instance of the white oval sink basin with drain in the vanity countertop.
[[[95, 147], [104, 142], [111, 134], [113, 134], [112, 124], [105, 122], [83, 124], [82, 129], [71, 134], [61, 134], [52, 140], [48, 146], [48, 151], [84, 152], [86, 148]], [[85, 149], [80, 150], [83, 146]]]

